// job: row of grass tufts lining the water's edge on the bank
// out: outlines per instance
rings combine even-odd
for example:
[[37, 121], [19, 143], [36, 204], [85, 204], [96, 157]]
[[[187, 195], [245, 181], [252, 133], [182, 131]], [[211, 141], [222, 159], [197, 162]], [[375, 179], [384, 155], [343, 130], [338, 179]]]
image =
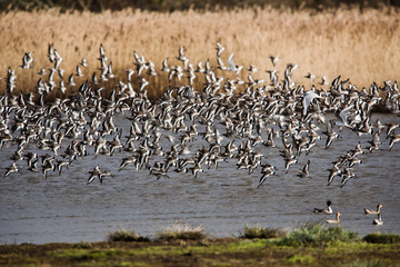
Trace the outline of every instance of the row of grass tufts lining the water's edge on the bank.
[[[136, 231], [119, 229], [107, 234], [108, 241], [202, 241], [209, 238], [201, 226], [174, 224], [166, 227], [150, 239]], [[307, 222], [293, 230], [244, 225], [239, 233], [241, 239], [269, 239], [278, 246], [289, 247], [327, 247], [342, 243], [366, 241], [370, 244], [400, 244], [400, 235], [373, 233], [360, 238], [356, 231], [344, 230], [340, 226], [327, 227], [322, 224]]]

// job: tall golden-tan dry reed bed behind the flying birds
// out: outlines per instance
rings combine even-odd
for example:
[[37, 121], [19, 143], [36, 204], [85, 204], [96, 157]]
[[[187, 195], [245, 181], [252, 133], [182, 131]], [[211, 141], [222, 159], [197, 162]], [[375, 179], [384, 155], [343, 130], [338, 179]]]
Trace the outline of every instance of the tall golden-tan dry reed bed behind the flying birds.
[[[309, 85], [303, 76], [311, 71], [330, 80], [342, 75], [361, 88], [372, 81], [381, 85], [399, 78], [399, 21], [396, 16], [372, 9], [363, 13], [342, 9], [314, 14], [276, 9], [172, 13], [12, 11], [0, 17], [0, 77], [7, 76], [10, 66], [18, 77], [17, 91], [33, 90], [39, 69], [52, 66], [47, 57], [49, 43], [63, 58], [66, 81], [81, 58], [89, 61], [86, 78], [99, 71], [100, 43], [113, 62], [117, 79], [126, 80], [123, 70], [133, 67], [133, 50], [152, 60], [158, 70], [167, 57], [169, 63], [178, 63], [180, 46], [186, 47], [194, 66], [207, 59], [216, 66], [214, 43], [219, 40], [227, 48], [224, 60], [234, 52], [236, 63], [267, 70], [273, 68], [268, 57], [280, 55], [276, 68], [282, 75], [286, 63], [300, 65], [293, 75], [300, 83]], [[27, 51], [33, 51], [33, 70], [18, 67]], [[256, 77], [268, 79], [268, 73], [259, 71]], [[168, 86], [166, 77], [154, 79], [154, 88], [149, 90], [157, 92]], [[4, 92], [4, 79], [0, 82], [0, 92]]]

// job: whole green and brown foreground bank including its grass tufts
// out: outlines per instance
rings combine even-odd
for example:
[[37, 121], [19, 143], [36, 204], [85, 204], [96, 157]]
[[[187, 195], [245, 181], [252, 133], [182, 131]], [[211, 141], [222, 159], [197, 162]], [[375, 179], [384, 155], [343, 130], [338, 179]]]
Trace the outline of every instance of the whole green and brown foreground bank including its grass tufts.
[[[177, 235], [183, 231], [204, 234], [201, 227], [176, 225], [163, 230], [174, 238], [146, 243], [132, 238], [113, 241], [109, 234], [106, 243], [2, 245], [0, 266], [327, 266], [327, 260], [331, 266], [400, 264], [400, 238], [393, 234], [371, 234], [360, 239], [356, 233], [338, 226], [316, 224], [266, 238], [204, 239], [199, 235], [196, 238]], [[263, 231], [276, 233], [260, 226], [244, 227], [244, 233]], [[121, 230], [117, 233], [120, 235]]]

